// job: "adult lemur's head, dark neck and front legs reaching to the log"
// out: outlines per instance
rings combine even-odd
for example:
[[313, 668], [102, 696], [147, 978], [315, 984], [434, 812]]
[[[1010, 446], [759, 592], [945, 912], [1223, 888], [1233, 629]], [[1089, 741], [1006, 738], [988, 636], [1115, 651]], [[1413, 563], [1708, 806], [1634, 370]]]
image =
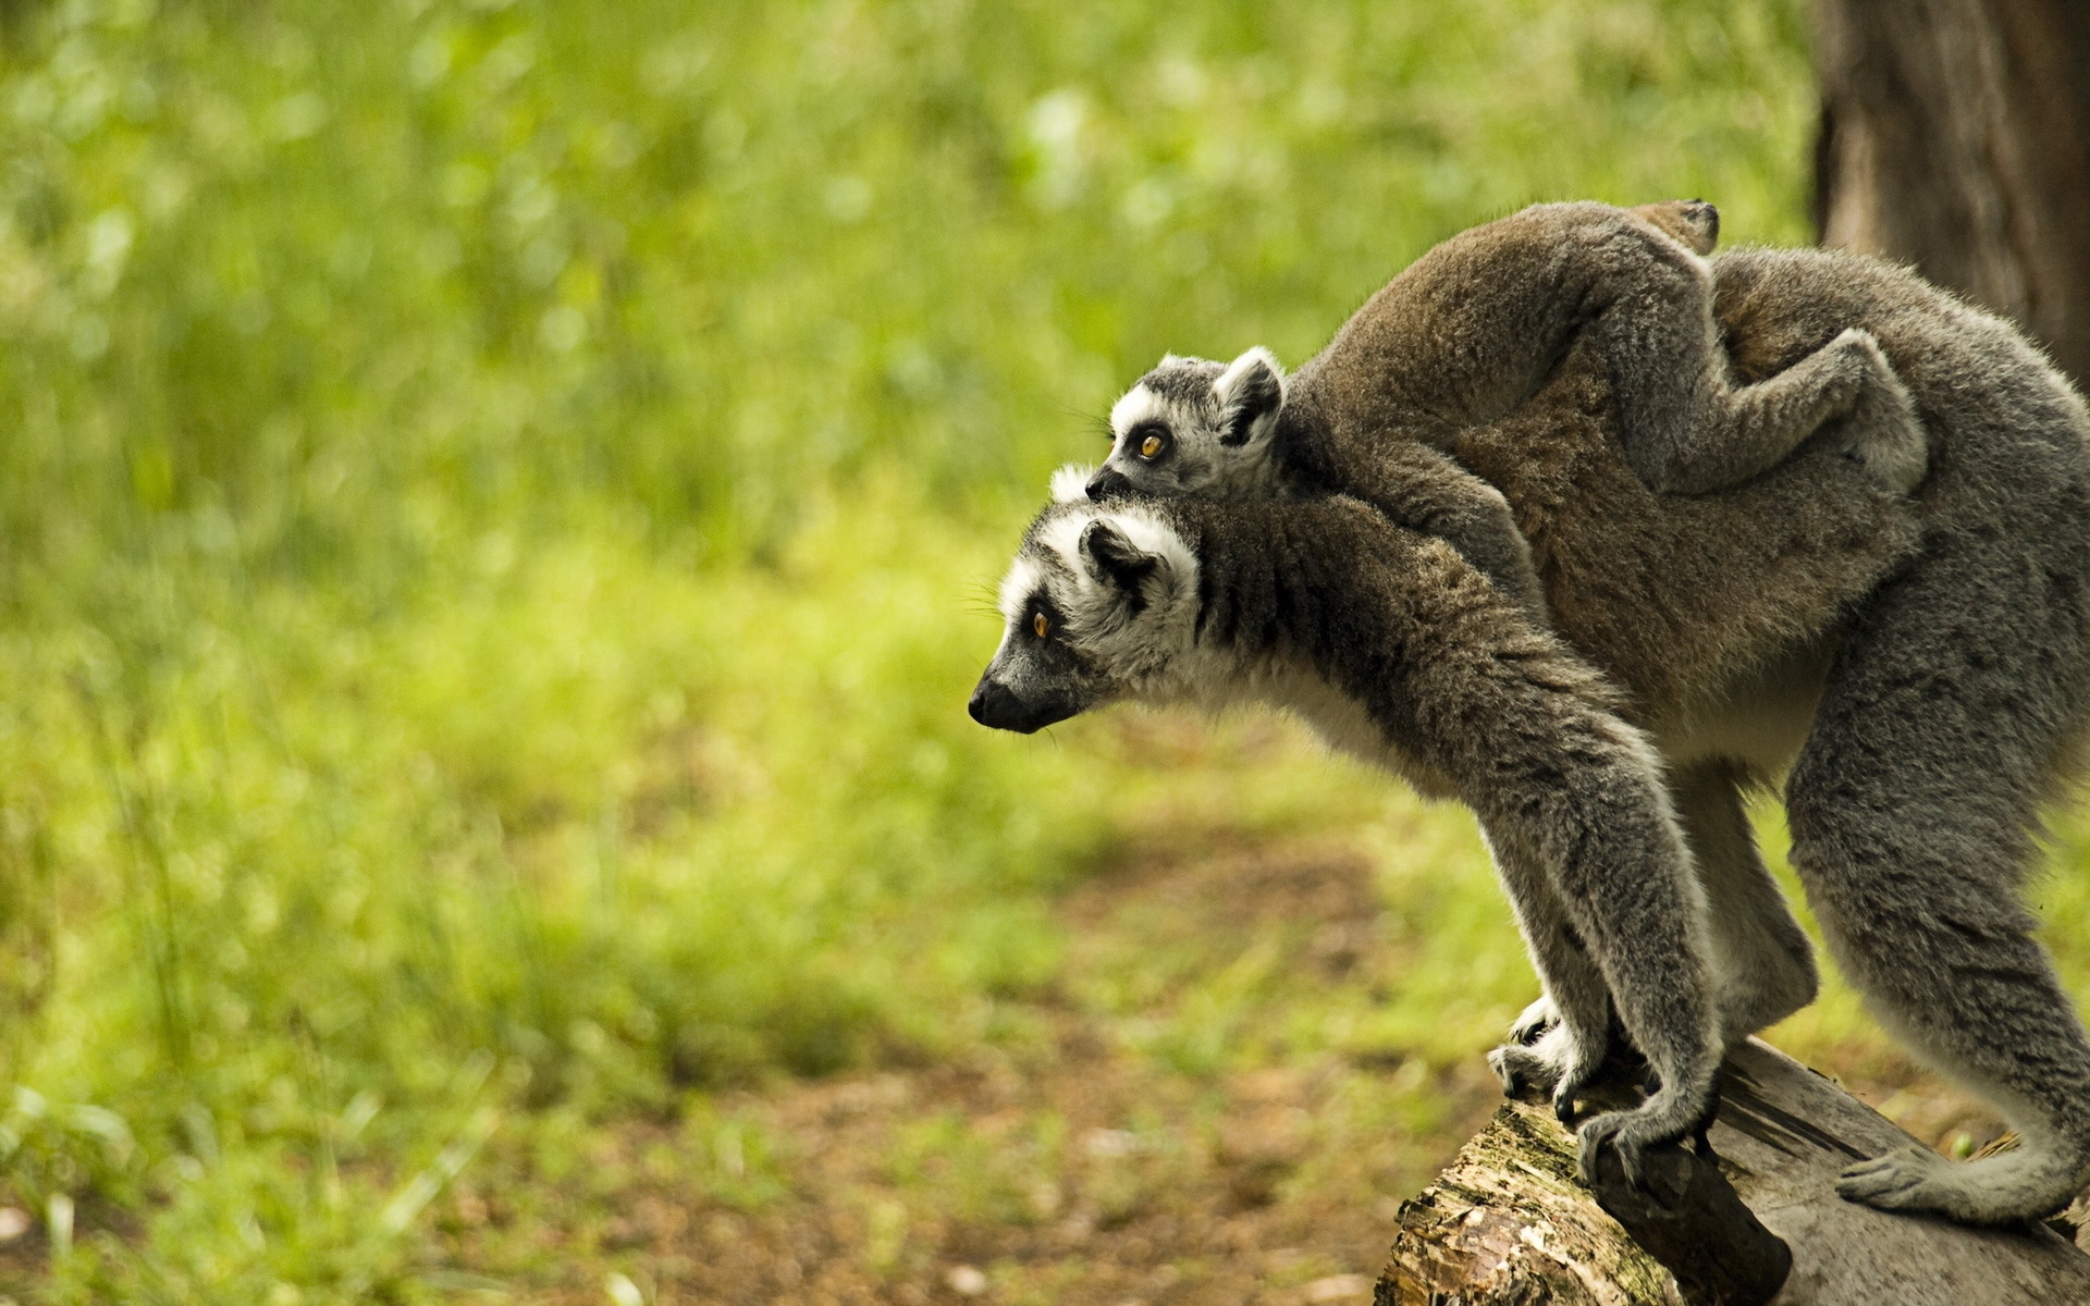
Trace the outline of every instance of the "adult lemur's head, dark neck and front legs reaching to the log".
[[1444, 541], [1340, 495], [1055, 504], [1024, 537], [1003, 612], [970, 704], [982, 725], [1028, 731], [1112, 700], [1260, 700], [1467, 802], [1540, 967], [1568, 934], [1588, 940], [1576, 976], [1597, 959], [1595, 1028], [1561, 1066], [1561, 1110], [1603, 1059], [1611, 1005], [1662, 1076], [1641, 1107], [1582, 1126], [1584, 1162], [1616, 1141], [1639, 1172], [1645, 1147], [1705, 1122], [1720, 1055], [1705, 907], [1659, 759], [1603, 677]]

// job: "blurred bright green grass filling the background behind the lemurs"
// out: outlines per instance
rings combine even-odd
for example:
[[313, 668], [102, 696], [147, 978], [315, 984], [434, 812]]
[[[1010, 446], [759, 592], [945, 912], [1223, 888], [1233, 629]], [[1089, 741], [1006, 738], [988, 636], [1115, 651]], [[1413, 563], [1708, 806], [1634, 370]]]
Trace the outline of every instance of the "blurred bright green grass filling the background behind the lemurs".
[[[1294, 1024], [1471, 1057], [1530, 976], [1461, 815], [1254, 721], [980, 731], [986, 587], [1164, 349], [1296, 362], [1534, 199], [1804, 240], [1799, 10], [8, 6], [33, 1291], [437, 1296], [491, 1130], [1020, 1036], [1135, 832], [1371, 846], [1415, 965]], [[1212, 1036], [1256, 982], [1158, 1055], [1275, 1055]]]

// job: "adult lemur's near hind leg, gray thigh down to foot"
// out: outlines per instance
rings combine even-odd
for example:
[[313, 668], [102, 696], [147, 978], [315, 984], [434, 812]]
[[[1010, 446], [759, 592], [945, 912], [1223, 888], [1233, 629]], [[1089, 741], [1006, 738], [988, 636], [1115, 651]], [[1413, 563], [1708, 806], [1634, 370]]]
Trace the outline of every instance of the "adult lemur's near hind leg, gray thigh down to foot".
[[1996, 1225], [2054, 1212], [2090, 1179], [2090, 1039], [2017, 896], [2038, 807], [2084, 723], [2086, 639], [2063, 585], [2080, 560], [1983, 547], [1933, 533], [1860, 616], [1787, 807], [1793, 863], [1845, 974], [2023, 1137], [1975, 1162], [1896, 1151], [1845, 1170], [1837, 1191]]

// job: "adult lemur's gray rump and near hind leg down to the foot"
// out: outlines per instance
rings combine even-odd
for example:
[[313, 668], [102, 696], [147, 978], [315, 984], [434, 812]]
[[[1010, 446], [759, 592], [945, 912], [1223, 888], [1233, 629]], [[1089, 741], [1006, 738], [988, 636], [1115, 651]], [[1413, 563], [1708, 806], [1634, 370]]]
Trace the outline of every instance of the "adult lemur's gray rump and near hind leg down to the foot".
[[1879, 1158], [1839, 1191], [2044, 1214], [2090, 1179], [2090, 1041], [2019, 899], [2090, 727], [2090, 414], [2011, 326], [1902, 267], [1743, 251], [1718, 274], [1739, 370], [1862, 326], [1935, 449], [1923, 552], [1858, 612], [1787, 782], [1793, 865], [1881, 1022], [2025, 1141]]

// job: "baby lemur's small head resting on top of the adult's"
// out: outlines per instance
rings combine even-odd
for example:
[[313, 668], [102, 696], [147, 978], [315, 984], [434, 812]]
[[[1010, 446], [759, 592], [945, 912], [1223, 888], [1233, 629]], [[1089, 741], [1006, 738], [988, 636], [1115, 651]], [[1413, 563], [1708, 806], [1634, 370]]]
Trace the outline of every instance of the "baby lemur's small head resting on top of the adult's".
[[1110, 460], [1089, 497], [1269, 493], [1285, 374], [1269, 349], [1231, 364], [1168, 355], [1110, 410]]

